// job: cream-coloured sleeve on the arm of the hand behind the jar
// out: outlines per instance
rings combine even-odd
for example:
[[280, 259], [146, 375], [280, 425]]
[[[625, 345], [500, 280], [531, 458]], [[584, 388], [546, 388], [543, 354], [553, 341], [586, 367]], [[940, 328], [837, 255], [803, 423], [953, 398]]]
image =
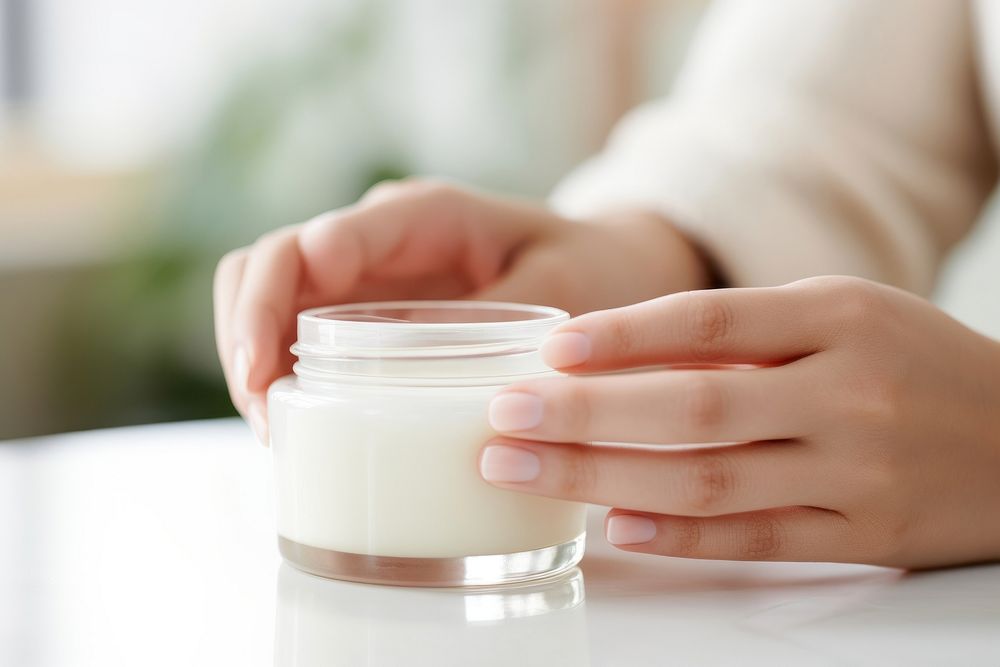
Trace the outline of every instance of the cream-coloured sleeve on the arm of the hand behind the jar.
[[731, 0], [669, 98], [552, 196], [664, 214], [734, 285], [852, 274], [927, 293], [996, 182], [962, 0]]

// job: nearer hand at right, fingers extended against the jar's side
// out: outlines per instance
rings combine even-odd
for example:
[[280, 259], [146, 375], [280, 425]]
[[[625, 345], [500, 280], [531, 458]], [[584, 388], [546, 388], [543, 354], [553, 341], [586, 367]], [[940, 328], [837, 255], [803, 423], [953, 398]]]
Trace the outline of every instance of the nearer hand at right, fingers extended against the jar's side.
[[[622, 549], [907, 568], [1000, 558], [1000, 344], [917, 297], [839, 277], [675, 294], [571, 320], [543, 357], [571, 377], [494, 399], [504, 437], [481, 472], [613, 506], [607, 538]], [[587, 375], [653, 365], [675, 366]]]

